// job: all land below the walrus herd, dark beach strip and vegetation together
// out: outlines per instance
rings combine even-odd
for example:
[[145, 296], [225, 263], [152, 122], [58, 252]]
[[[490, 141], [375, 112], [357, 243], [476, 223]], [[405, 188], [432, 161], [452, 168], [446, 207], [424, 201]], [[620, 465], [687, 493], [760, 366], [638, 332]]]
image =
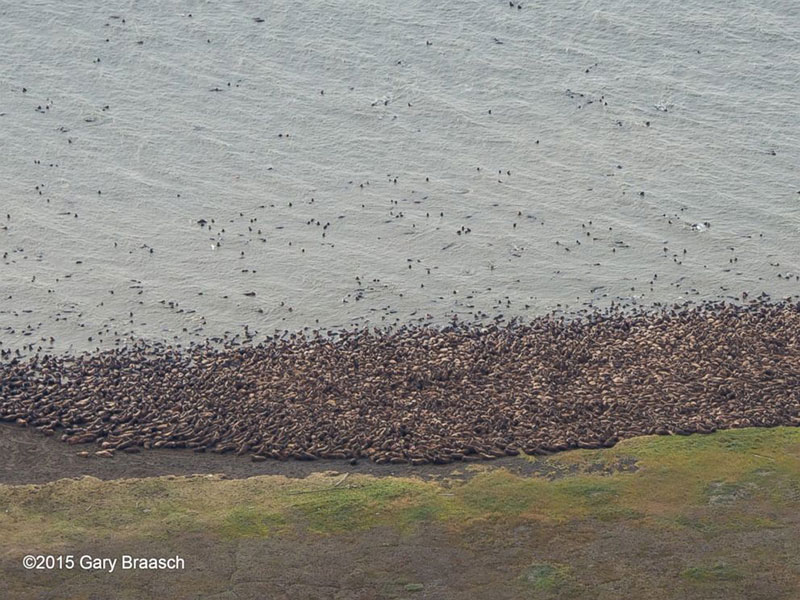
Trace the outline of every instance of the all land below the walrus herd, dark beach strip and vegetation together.
[[[2, 598], [800, 597], [797, 428], [427, 471], [84, 459], [8, 427], [0, 450]], [[224, 475], [187, 476], [209, 472]], [[185, 568], [22, 567], [45, 553], [180, 555]]]

